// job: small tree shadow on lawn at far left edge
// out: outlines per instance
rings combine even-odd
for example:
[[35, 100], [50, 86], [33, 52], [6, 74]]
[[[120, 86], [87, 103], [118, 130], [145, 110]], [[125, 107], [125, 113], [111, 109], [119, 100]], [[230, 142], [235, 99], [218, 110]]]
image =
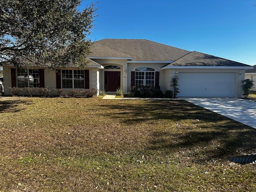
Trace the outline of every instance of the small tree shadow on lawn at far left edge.
[[0, 113], [4, 112], [19, 112], [20, 104], [30, 104], [27, 101], [20, 101], [20, 100], [6, 100], [6, 101], [0, 101]]

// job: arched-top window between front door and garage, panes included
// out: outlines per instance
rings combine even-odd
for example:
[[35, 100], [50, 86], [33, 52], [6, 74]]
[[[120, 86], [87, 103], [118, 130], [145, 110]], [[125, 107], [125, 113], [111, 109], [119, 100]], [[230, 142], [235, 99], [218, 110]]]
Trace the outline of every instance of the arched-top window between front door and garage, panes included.
[[135, 69], [136, 86], [155, 86], [155, 70], [149, 67], [140, 67]]

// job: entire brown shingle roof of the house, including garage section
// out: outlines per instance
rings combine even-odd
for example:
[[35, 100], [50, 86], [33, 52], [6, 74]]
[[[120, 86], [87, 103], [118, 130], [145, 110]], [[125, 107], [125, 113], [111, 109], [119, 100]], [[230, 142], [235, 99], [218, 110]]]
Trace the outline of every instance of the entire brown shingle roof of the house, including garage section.
[[248, 66], [216, 56], [190, 52], [145, 39], [103, 39], [94, 42], [89, 58], [132, 58], [133, 61], [174, 61], [166, 66]]

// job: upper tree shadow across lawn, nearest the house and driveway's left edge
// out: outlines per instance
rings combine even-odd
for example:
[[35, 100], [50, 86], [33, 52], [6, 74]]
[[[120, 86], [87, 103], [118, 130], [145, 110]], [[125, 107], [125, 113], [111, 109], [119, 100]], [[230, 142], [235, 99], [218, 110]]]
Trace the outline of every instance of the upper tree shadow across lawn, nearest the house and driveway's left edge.
[[[142, 105], [136, 106], [128, 102], [120, 102], [116, 105], [101, 105], [101, 107], [110, 108], [111, 113], [105, 113], [106, 116], [121, 118], [126, 124], [140, 123], [148, 120], [170, 119], [180, 120], [204, 120], [205, 122], [218, 122], [223, 120], [209, 110], [195, 106], [184, 100], [177, 101], [157, 101], [149, 100]], [[116, 111], [116, 112], [115, 112]]]

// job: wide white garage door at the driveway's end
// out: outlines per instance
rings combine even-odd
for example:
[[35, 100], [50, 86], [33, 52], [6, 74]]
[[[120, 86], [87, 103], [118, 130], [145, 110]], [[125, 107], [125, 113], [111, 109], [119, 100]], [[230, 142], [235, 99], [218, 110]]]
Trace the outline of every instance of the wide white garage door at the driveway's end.
[[234, 97], [234, 73], [178, 74], [178, 97]]

